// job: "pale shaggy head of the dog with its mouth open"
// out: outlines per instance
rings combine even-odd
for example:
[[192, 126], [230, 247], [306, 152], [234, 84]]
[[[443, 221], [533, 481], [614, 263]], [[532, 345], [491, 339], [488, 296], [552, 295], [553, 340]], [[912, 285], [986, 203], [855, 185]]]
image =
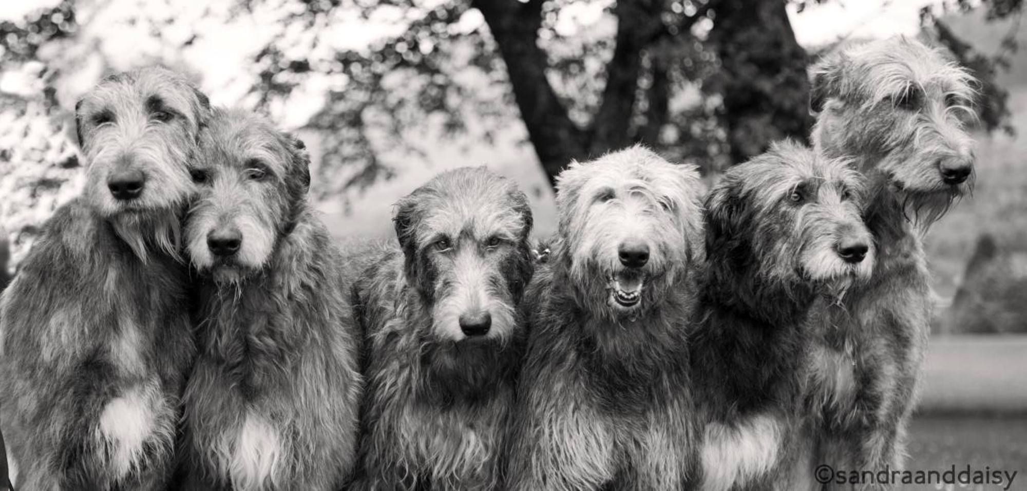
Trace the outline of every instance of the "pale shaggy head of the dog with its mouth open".
[[594, 313], [620, 319], [657, 308], [705, 257], [701, 191], [693, 166], [640, 146], [572, 162], [558, 179], [551, 261]]

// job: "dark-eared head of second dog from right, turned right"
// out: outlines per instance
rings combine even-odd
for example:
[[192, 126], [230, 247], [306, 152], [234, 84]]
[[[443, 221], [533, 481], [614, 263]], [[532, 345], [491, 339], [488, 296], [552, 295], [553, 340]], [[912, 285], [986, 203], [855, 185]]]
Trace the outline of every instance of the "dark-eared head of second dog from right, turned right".
[[768, 305], [804, 291], [840, 295], [873, 268], [863, 199], [847, 162], [791, 142], [730, 168], [707, 196], [713, 285]]

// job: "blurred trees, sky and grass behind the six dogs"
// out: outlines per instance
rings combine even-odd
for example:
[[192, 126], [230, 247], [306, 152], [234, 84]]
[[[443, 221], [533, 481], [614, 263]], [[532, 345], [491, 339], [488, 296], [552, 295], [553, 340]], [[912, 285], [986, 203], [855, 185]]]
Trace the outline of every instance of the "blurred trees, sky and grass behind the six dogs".
[[3, 1], [0, 287], [79, 191], [72, 111], [110, 72], [161, 64], [214, 104], [299, 135], [312, 198], [340, 238], [389, 236], [396, 198], [462, 165], [516, 179], [547, 234], [550, 183], [571, 159], [643, 142], [714, 179], [770, 141], [806, 139], [806, 68], [820, 53], [919, 37], [982, 84], [975, 193], [926, 237], [938, 336], [914, 459], [951, 460], [976, 442], [967, 455], [1022, 465], [1027, 338], [1011, 333], [1027, 332], [1023, 10], [1023, 0]]

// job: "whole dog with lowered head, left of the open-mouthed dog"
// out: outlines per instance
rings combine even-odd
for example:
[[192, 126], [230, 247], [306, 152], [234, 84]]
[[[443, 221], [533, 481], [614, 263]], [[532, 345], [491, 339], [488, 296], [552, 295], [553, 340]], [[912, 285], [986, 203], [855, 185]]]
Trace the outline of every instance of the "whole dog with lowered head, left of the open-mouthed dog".
[[496, 489], [531, 209], [511, 181], [460, 168], [404, 197], [394, 222], [401, 250], [376, 256], [354, 288], [368, 349], [355, 489]]

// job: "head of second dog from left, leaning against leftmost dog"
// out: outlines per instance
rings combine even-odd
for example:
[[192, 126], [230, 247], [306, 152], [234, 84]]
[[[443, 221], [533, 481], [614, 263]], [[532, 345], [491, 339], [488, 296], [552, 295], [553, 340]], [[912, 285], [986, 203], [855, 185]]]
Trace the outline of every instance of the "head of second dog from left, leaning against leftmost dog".
[[306, 209], [310, 158], [303, 142], [243, 111], [216, 111], [192, 171], [198, 199], [186, 221], [193, 265], [219, 284], [268, 265]]

